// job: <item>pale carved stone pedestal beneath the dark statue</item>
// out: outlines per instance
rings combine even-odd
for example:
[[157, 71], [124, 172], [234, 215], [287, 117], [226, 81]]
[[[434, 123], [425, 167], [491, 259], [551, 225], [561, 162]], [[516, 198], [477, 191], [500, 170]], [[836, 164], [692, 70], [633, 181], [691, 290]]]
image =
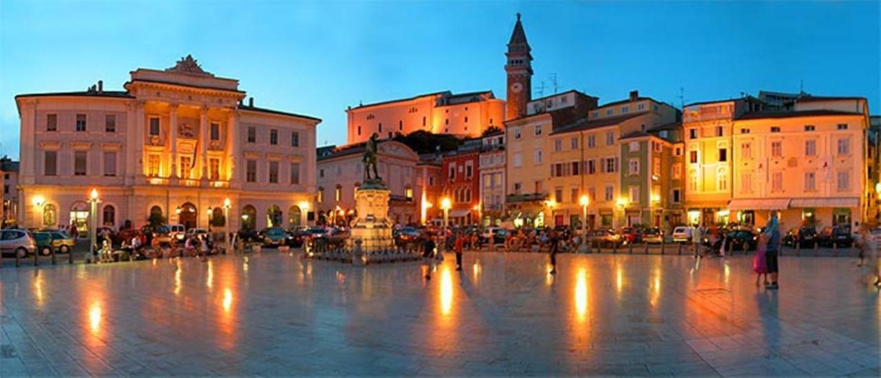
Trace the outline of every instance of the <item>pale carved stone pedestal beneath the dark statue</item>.
[[395, 246], [395, 239], [391, 235], [392, 223], [389, 222], [390, 195], [391, 191], [378, 180], [366, 180], [355, 191], [358, 218], [352, 224], [352, 237], [346, 241], [350, 248], [354, 246], [356, 239], [361, 240], [363, 251], [378, 251]]

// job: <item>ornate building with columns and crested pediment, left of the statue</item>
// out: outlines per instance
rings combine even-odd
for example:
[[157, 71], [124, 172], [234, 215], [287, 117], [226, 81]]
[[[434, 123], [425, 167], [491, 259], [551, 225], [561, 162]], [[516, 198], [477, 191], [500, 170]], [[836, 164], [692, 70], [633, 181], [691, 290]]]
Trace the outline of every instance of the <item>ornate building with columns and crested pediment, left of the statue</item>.
[[231, 229], [307, 222], [321, 120], [245, 105], [238, 80], [189, 55], [170, 69], [136, 69], [124, 87], [16, 96], [20, 224], [85, 230], [93, 188], [109, 227], [151, 215], [218, 226], [226, 198]]

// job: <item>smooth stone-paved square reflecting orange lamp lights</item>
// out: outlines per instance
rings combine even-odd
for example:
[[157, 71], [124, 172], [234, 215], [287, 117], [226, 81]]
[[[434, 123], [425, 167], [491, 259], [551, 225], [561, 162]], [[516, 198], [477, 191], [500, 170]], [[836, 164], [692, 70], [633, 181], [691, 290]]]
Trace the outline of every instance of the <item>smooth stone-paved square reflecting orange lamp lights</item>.
[[852, 258], [297, 254], [0, 270], [0, 375], [878, 375], [879, 294]]

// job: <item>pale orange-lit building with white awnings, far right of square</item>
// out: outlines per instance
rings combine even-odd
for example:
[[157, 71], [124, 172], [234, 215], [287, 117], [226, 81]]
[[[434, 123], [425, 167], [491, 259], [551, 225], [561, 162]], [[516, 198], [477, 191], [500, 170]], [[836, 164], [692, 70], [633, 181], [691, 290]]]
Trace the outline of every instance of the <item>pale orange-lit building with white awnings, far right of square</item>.
[[732, 222], [762, 225], [780, 211], [786, 229], [855, 225], [877, 212], [876, 146], [865, 98], [801, 97], [791, 112], [734, 120]]

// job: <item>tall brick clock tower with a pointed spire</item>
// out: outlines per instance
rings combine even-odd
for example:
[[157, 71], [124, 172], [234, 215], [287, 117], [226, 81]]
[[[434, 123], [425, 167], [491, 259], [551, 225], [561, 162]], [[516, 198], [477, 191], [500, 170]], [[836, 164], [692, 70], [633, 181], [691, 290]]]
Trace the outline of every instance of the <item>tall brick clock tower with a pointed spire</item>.
[[517, 23], [511, 40], [507, 42], [507, 111], [505, 120], [514, 120], [526, 115], [526, 104], [532, 99], [532, 55], [529, 52], [526, 33], [517, 13]]

